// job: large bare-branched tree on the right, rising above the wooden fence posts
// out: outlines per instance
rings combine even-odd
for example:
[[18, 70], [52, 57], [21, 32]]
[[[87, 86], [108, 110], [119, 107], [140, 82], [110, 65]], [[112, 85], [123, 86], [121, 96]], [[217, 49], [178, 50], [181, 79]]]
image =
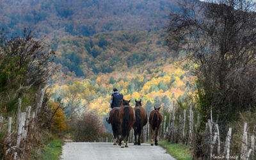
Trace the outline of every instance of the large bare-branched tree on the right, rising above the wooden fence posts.
[[225, 124], [239, 112], [255, 109], [256, 3], [184, 0], [179, 6], [179, 13], [171, 13], [166, 42], [173, 56], [185, 53], [186, 60], [198, 65], [199, 129], [212, 106], [221, 131], [227, 132]]

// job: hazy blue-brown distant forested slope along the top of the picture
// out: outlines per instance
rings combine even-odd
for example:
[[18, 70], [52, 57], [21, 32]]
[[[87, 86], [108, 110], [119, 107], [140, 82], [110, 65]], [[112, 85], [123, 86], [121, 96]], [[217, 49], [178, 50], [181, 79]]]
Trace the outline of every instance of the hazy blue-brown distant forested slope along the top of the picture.
[[168, 25], [175, 1], [10, 0], [0, 1], [0, 28], [36, 36], [89, 36], [104, 31], [157, 30]]

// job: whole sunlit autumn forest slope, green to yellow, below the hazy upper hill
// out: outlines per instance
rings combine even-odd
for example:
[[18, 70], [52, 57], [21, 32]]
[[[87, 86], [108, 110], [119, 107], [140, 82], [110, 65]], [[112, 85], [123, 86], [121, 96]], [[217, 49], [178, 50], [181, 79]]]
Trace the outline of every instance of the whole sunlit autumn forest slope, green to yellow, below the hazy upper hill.
[[112, 31], [54, 38], [48, 43], [56, 50], [61, 72], [52, 98], [63, 100], [69, 116], [86, 111], [102, 119], [116, 87], [132, 105], [142, 99], [148, 113], [153, 105], [167, 109], [172, 100], [184, 98], [194, 88], [193, 65], [173, 63], [165, 35], [163, 30]]

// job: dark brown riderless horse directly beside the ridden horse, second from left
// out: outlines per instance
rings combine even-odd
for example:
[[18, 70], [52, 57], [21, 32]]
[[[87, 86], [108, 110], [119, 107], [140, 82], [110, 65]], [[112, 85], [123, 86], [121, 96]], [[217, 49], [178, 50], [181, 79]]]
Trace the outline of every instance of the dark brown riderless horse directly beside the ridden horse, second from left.
[[121, 131], [121, 141], [122, 145], [121, 148], [124, 148], [124, 139], [125, 139], [125, 147], [128, 147], [128, 138], [129, 133], [131, 131], [132, 125], [135, 122], [135, 114], [134, 110], [131, 106], [129, 106], [129, 101], [123, 100], [119, 113], [118, 113], [118, 122], [120, 125]]

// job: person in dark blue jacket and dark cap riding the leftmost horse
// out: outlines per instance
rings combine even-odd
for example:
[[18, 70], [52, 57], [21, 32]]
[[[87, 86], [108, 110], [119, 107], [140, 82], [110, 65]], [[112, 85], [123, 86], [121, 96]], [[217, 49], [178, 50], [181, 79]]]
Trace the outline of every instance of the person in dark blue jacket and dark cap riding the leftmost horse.
[[[120, 108], [120, 103], [124, 99], [124, 95], [122, 93], [119, 93], [116, 88], [113, 89], [113, 93], [111, 94], [111, 100], [110, 100], [110, 107], [113, 108]], [[109, 118], [106, 118], [108, 121], [108, 124], [110, 124], [110, 113]]]

